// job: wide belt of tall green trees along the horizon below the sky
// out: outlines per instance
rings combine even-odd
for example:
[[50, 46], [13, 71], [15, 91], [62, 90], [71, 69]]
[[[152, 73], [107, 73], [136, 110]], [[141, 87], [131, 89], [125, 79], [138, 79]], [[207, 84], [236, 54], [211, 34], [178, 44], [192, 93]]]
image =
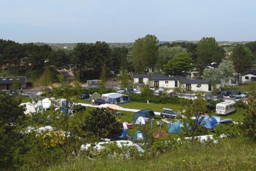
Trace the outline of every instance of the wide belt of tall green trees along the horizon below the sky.
[[159, 43], [155, 35], [135, 40], [132, 48], [110, 48], [104, 41], [94, 44], [78, 43], [73, 50], [53, 51], [48, 45], [19, 44], [0, 39], [0, 66], [12, 75], [20, 70], [36, 70], [46, 66], [72, 69], [80, 80], [96, 79], [102, 69], [107, 76], [119, 74], [120, 70], [145, 74], [165, 73], [173, 76], [187, 75], [195, 68], [198, 78], [203, 76], [207, 64], [232, 61], [237, 73], [253, 68], [256, 59], [256, 41], [236, 45], [230, 58], [225, 55], [214, 37], [203, 37], [193, 42]]

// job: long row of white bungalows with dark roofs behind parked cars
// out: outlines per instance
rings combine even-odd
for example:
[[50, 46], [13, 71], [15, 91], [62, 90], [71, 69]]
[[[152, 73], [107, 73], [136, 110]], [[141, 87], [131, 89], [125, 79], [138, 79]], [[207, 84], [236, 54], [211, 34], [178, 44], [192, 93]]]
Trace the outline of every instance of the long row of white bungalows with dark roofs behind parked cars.
[[[150, 77], [150, 78], [149, 78]], [[188, 79], [187, 77], [169, 77], [164, 74], [137, 74], [133, 76], [135, 84], [146, 84], [151, 82], [154, 87], [164, 87], [164, 88], [177, 88], [179, 81], [182, 81], [184, 88], [187, 91], [211, 91], [212, 85], [211, 81], [204, 79]], [[217, 88], [220, 86], [220, 81], [216, 81]]]

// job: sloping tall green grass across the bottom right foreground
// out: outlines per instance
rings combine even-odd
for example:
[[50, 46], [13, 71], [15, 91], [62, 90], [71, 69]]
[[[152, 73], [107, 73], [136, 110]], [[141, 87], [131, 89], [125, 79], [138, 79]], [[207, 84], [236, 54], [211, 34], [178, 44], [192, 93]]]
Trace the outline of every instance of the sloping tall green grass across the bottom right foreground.
[[256, 144], [242, 137], [218, 144], [184, 141], [178, 148], [141, 159], [78, 158], [48, 170], [256, 170]]

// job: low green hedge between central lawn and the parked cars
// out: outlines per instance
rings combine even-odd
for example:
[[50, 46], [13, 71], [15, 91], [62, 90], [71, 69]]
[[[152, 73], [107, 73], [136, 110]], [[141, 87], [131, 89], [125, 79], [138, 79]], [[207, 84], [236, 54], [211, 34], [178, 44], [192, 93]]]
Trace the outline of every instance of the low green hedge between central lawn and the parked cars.
[[168, 103], [173, 103], [173, 104], [179, 104], [181, 101], [186, 101], [189, 102], [189, 99], [182, 99], [179, 97], [172, 97], [172, 96], [163, 96], [163, 95], [145, 95], [143, 96], [142, 94], [127, 94], [130, 97], [130, 101], [133, 102], [142, 102], [146, 103], [148, 100], [149, 102], [152, 103], [161, 103], [161, 104], [168, 104]]

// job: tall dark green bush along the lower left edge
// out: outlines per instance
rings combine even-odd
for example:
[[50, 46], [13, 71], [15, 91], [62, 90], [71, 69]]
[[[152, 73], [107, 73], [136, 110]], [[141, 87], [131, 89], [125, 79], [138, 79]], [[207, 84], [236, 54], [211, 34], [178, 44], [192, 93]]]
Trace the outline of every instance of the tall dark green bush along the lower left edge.
[[18, 164], [20, 126], [25, 120], [19, 104], [15, 96], [0, 92], [0, 168], [11, 169]]

